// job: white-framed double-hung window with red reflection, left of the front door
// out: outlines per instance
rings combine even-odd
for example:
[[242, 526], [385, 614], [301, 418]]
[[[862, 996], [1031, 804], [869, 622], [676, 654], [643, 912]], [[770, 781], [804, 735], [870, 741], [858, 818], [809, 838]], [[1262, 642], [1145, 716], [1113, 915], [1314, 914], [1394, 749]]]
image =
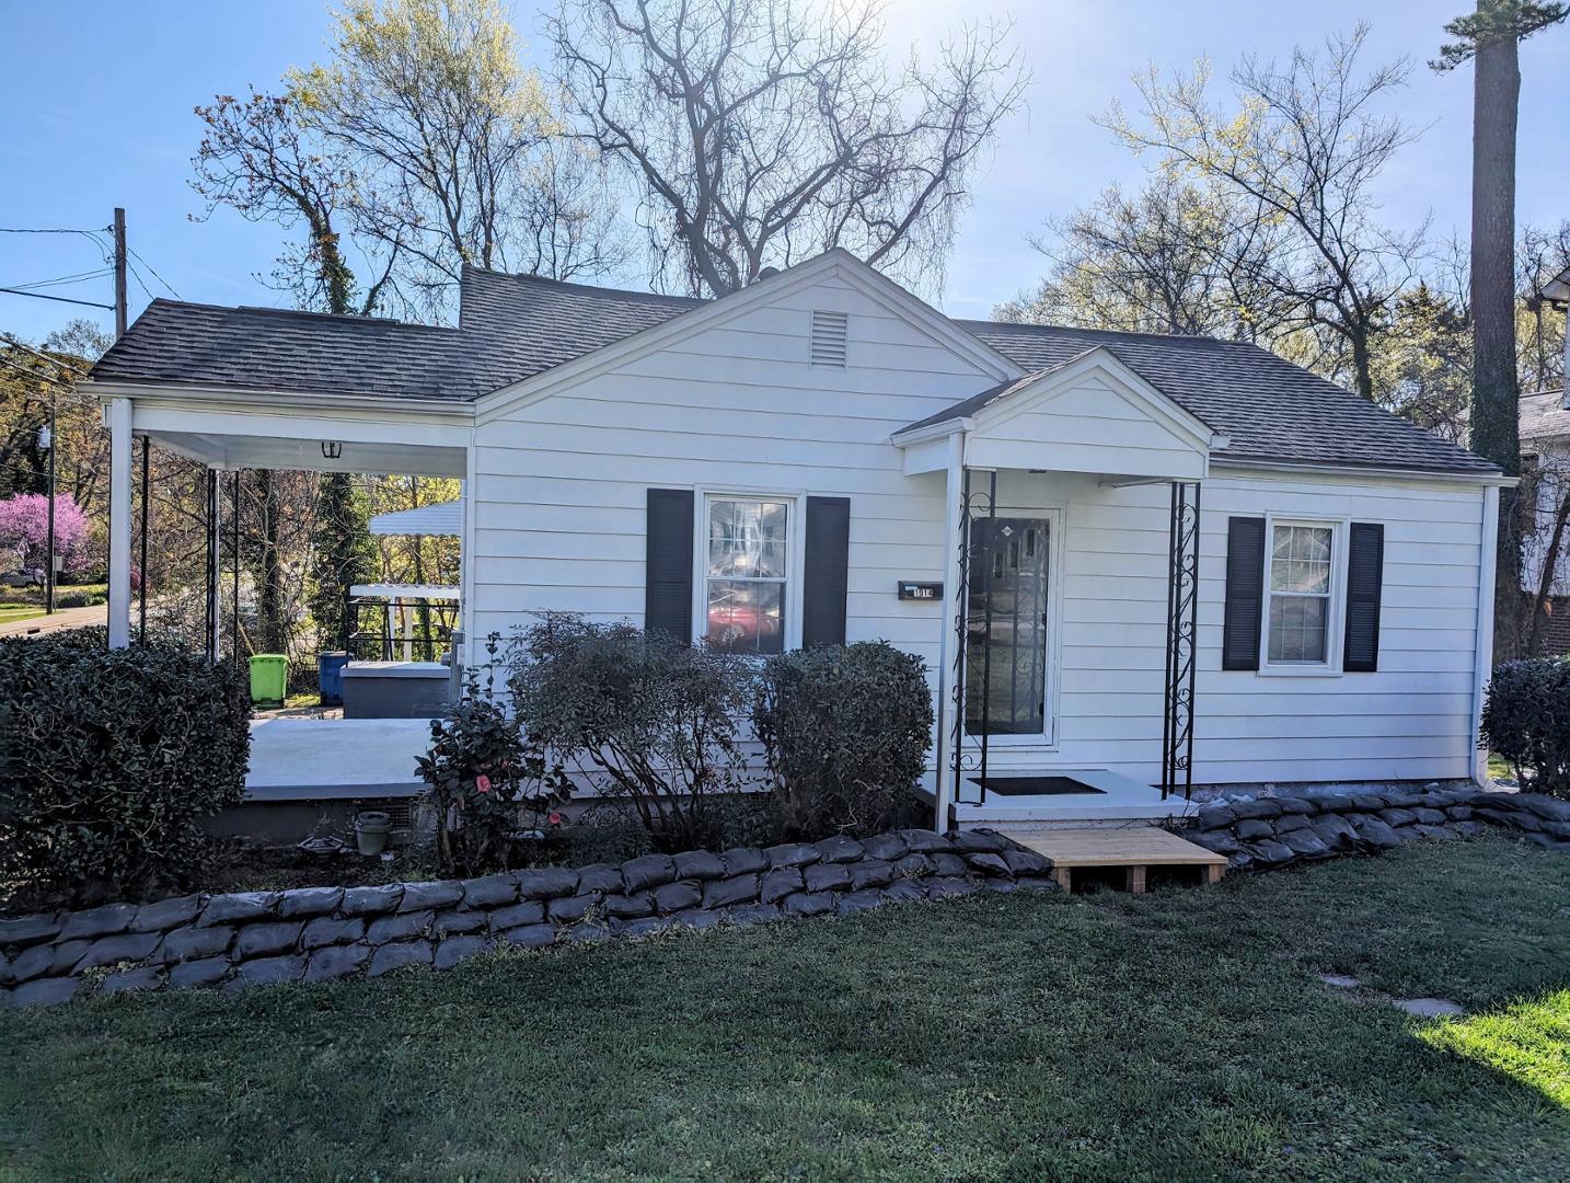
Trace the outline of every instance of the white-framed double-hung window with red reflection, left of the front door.
[[783, 652], [790, 501], [708, 496], [705, 514], [703, 630], [708, 643], [732, 654]]

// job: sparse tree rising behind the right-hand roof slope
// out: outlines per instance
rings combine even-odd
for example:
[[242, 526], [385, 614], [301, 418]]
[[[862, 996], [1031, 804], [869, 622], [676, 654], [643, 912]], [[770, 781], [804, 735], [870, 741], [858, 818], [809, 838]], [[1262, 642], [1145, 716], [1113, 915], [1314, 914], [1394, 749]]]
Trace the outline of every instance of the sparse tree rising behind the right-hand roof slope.
[[1245, 58], [1232, 71], [1237, 110], [1209, 99], [1209, 69], [1163, 82], [1152, 68], [1135, 79], [1143, 121], [1113, 107], [1104, 126], [1163, 168], [1254, 203], [1281, 234], [1272, 250], [1236, 259], [1250, 281], [1298, 309], [1303, 328], [1325, 338], [1338, 369], [1374, 396], [1375, 338], [1397, 292], [1413, 277], [1427, 228], [1397, 233], [1377, 218], [1374, 184], [1415, 132], [1380, 115], [1405, 85], [1410, 63], [1360, 71], [1360, 25], [1322, 52], [1297, 49], [1284, 66]]

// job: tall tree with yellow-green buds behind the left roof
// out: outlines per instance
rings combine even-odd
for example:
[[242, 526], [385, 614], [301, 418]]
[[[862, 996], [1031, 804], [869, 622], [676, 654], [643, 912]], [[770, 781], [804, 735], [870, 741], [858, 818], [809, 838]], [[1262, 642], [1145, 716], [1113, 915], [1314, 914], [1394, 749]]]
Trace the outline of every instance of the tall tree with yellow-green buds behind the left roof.
[[623, 261], [598, 170], [560, 143], [498, 0], [350, 0], [327, 64], [289, 75], [311, 129], [355, 170], [355, 231], [399, 256], [440, 314], [465, 262], [567, 280]]

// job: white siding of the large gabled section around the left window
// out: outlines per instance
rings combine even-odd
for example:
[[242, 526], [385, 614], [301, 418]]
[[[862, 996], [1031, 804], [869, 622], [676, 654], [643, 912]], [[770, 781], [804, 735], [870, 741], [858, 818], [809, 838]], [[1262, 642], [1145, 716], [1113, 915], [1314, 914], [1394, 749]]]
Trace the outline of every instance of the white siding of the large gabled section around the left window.
[[[843, 369], [809, 364], [813, 309], [849, 314]], [[543, 608], [641, 622], [648, 487], [848, 495], [848, 639], [936, 665], [939, 608], [895, 583], [937, 578], [944, 478], [906, 478], [889, 435], [995, 380], [829, 280], [482, 424], [476, 635]]]

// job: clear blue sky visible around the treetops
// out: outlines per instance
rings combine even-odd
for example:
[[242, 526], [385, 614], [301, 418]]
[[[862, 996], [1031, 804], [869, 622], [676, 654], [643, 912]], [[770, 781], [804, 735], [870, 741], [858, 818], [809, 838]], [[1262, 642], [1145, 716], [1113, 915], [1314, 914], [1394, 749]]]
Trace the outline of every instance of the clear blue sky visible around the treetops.
[[[977, 181], [939, 303], [956, 316], [988, 311], [1041, 273], [1025, 236], [1049, 214], [1090, 201], [1110, 181], [1138, 184], [1145, 165], [1090, 116], [1135, 96], [1129, 75], [1156, 63], [1188, 68], [1209, 55], [1218, 72], [1240, 55], [1281, 57], [1367, 19], [1367, 61], [1418, 63], [1396, 110], [1427, 130], [1383, 178], [1385, 217], [1405, 226], [1433, 215], [1435, 229], [1463, 229], [1468, 215], [1471, 74], [1422, 68], [1441, 25], [1468, 0], [1317, 0], [1313, 5], [1184, 0], [893, 0], [890, 49], [931, 47], [945, 28], [978, 16], [1013, 17], [1035, 74], [1030, 110], [1011, 119]], [[534, 39], [535, 9], [515, 20]], [[0, 0], [6, 69], [0, 72], [0, 226], [104, 226], [127, 209], [133, 250], [181, 297], [206, 303], [276, 305], [265, 275], [279, 231], [220, 211], [209, 222], [187, 185], [199, 140], [196, 104], [248, 83], [272, 86], [290, 64], [320, 58], [323, 0]], [[903, 41], [901, 41], [903, 39]], [[1521, 52], [1518, 167], [1521, 222], [1570, 217], [1570, 28]], [[94, 247], [71, 236], [0, 234], [0, 286], [99, 266]], [[146, 275], [159, 294], [168, 294]], [[108, 300], [107, 280], [57, 289]], [[146, 294], [132, 283], [132, 314]], [[0, 294], [0, 328], [41, 338], [74, 314], [107, 313]]]

